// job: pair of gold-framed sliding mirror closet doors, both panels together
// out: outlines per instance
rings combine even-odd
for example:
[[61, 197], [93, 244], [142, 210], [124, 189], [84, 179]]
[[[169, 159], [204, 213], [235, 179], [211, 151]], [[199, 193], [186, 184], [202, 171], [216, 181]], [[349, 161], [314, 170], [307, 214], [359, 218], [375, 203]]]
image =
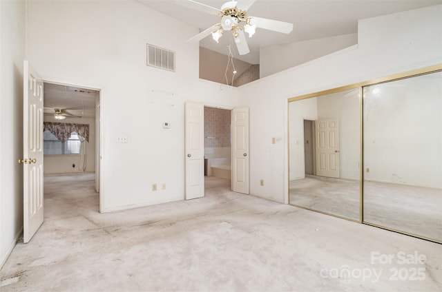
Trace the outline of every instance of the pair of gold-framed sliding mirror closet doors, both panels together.
[[441, 243], [441, 70], [290, 98], [289, 204]]

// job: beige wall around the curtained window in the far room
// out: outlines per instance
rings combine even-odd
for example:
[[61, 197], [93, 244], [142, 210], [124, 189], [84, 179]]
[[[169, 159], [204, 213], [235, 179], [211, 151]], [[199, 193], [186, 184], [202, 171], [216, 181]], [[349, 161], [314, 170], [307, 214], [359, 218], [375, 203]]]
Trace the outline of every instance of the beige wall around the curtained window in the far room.
[[[89, 125], [89, 142], [86, 142], [86, 172], [95, 171], [95, 118], [66, 118], [64, 121], [56, 120], [53, 116], [45, 116], [45, 122], [53, 123], [78, 123]], [[75, 168], [72, 165], [75, 164]], [[45, 155], [44, 174], [69, 174], [80, 170], [80, 156]]]

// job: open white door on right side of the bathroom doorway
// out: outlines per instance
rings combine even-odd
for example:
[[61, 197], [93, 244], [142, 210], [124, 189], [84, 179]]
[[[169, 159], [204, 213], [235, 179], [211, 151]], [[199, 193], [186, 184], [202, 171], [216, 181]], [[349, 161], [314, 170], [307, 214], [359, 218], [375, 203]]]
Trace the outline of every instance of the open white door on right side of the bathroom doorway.
[[249, 194], [249, 108], [232, 110], [232, 191]]

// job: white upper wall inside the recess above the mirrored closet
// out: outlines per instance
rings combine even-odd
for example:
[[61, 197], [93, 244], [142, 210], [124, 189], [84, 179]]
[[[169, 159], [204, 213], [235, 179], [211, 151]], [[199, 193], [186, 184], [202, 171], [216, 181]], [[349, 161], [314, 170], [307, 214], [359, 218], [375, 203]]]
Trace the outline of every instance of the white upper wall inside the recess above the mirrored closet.
[[260, 49], [260, 78], [356, 45], [358, 34], [329, 36]]

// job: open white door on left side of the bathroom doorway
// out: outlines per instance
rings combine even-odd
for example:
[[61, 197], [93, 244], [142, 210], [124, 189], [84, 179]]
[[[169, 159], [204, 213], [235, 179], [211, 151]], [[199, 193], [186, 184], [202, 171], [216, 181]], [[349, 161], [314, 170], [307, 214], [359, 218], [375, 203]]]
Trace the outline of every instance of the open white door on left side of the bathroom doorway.
[[204, 105], [185, 105], [186, 200], [204, 196]]

